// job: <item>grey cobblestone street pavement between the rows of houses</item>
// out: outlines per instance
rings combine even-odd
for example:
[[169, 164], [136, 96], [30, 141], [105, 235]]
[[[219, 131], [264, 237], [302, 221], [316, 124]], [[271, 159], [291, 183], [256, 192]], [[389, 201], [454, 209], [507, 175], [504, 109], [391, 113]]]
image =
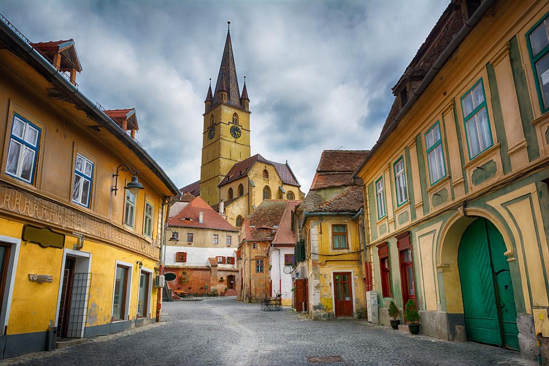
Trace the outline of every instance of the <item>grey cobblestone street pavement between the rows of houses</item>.
[[[313, 321], [290, 309], [262, 312], [234, 298], [164, 303], [163, 323], [83, 345], [1, 361], [18, 365], [534, 364], [518, 352], [412, 336], [363, 319]], [[311, 363], [310, 365], [315, 365]], [[327, 365], [321, 363], [320, 365]]]

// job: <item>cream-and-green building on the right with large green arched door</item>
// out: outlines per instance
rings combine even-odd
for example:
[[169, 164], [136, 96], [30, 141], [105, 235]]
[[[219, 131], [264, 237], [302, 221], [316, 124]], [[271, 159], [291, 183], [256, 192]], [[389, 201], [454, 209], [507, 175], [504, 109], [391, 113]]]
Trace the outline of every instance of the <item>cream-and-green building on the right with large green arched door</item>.
[[423, 334], [547, 357], [548, 12], [452, 2], [393, 88], [357, 170], [381, 323], [411, 300]]

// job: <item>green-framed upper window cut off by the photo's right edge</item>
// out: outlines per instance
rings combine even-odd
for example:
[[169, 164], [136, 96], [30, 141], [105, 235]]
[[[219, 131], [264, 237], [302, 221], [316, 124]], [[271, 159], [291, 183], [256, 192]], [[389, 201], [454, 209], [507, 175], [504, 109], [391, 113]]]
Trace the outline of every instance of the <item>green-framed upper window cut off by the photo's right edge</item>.
[[[536, 80], [541, 113], [545, 113], [549, 110], [549, 13], [526, 33], [526, 44]], [[545, 71], [540, 72], [544, 68]]]

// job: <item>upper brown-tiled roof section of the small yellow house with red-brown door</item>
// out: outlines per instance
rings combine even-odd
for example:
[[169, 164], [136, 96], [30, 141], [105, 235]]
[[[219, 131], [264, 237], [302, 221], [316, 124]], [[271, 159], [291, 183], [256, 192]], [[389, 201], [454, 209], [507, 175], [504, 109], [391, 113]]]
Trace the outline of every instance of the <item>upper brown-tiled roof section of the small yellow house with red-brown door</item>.
[[368, 150], [324, 150], [311, 190], [361, 184], [352, 174], [367, 154]]

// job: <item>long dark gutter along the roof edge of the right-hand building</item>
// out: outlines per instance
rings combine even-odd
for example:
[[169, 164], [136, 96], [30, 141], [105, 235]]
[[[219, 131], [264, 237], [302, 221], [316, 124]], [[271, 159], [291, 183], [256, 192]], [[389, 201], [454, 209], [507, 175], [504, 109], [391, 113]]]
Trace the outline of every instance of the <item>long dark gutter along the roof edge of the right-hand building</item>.
[[461, 42], [470, 33], [473, 27], [479, 23], [484, 13], [486, 13], [486, 10], [488, 10], [488, 8], [490, 8], [491, 5], [494, 4], [494, 2], [495, 0], [484, 0], [479, 5], [477, 10], [475, 10], [473, 15], [471, 15], [470, 18], [467, 19], [467, 21], [463, 24], [461, 30], [452, 38], [450, 44], [444, 49], [444, 51], [442, 51], [439, 58], [436, 59], [433, 66], [431, 66], [429, 71], [427, 71], [427, 74], [425, 74], [425, 77], [423, 77], [423, 80], [421, 81], [417, 89], [413, 91], [412, 96], [410, 97], [410, 99], [408, 99], [408, 102], [406, 102], [404, 107], [402, 107], [399, 114], [396, 115], [395, 119], [389, 124], [385, 132], [381, 136], [379, 136], [379, 140], [376, 142], [376, 145], [374, 145], [370, 149], [369, 153], [366, 155], [366, 159], [364, 159], [360, 167], [355, 170], [355, 173], [352, 174], [352, 178], [356, 177], [358, 171], [364, 168], [368, 159], [372, 158], [373, 154], [377, 151], [379, 146], [381, 146], [386, 138], [389, 137], [391, 132], [396, 129], [396, 126], [399, 124], [402, 118], [404, 118], [404, 115], [408, 112], [408, 110], [410, 110], [410, 108], [412, 108], [413, 104], [417, 101], [419, 96], [422, 95], [430, 82], [433, 81], [435, 75], [440, 71], [442, 66], [444, 66], [446, 60], [454, 51], [456, 51], [457, 47], [460, 46]]

